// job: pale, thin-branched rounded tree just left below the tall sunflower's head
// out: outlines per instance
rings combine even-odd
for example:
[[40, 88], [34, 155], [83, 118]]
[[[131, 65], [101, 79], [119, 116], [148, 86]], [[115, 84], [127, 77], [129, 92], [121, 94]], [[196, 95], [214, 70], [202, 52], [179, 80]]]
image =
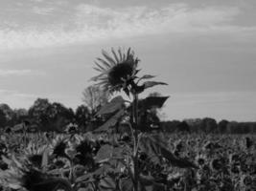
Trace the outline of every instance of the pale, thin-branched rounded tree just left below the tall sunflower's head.
[[102, 105], [105, 105], [109, 97], [108, 92], [95, 85], [87, 87], [82, 92], [82, 101], [92, 114], [95, 114]]

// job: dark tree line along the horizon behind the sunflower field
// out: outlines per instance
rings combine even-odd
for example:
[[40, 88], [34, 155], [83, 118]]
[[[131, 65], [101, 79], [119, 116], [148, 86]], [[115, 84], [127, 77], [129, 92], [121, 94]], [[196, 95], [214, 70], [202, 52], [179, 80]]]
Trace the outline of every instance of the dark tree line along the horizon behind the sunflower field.
[[[158, 96], [165, 99], [159, 93], [151, 93], [150, 97]], [[95, 114], [109, 101], [110, 95], [97, 86], [89, 86], [82, 92], [83, 104], [75, 110], [67, 108], [58, 102], [51, 103], [47, 98], [37, 98], [34, 104], [27, 109], [12, 109], [8, 104], [0, 104], [0, 129], [6, 130], [13, 126], [25, 123], [35, 131], [63, 132], [68, 124], [75, 124], [81, 132], [91, 131], [99, 127], [107, 118], [98, 117]], [[148, 102], [139, 102], [139, 117], [145, 130], [158, 129], [167, 133], [220, 133], [220, 134], [249, 134], [256, 133], [256, 122], [237, 122], [214, 118], [192, 118], [161, 121], [159, 110], [147, 108]], [[161, 98], [159, 99], [162, 101]], [[122, 124], [119, 124], [123, 126]]]

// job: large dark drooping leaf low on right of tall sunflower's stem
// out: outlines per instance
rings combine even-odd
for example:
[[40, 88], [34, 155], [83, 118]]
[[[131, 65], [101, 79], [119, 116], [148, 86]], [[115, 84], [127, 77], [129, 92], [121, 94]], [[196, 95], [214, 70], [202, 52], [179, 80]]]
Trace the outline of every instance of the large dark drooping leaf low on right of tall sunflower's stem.
[[159, 163], [163, 157], [179, 168], [198, 168], [193, 162], [187, 159], [175, 157], [175, 155], [168, 150], [167, 145], [167, 141], [165, 141], [165, 138], [160, 134], [147, 134], [140, 139], [140, 149], [147, 153], [153, 162]]

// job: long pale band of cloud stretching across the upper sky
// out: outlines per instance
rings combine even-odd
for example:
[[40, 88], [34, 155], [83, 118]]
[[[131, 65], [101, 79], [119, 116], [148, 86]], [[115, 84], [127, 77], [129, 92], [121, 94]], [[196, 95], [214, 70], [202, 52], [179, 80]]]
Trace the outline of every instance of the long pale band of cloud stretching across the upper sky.
[[[191, 9], [186, 4], [170, 4], [163, 8], [149, 7], [101, 8], [81, 4], [69, 12], [68, 19], [48, 26], [36, 23], [22, 29], [0, 31], [0, 50], [43, 48], [75, 43], [97, 43], [113, 38], [127, 38], [151, 34], [227, 33], [250, 37], [256, 27], [232, 24], [242, 12], [235, 7], [205, 7]], [[52, 9], [36, 7], [38, 14], [52, 13]], [[63, 12], [62, 12], [63, 13]], [[58, 15], [59, 16], [59, 15]], [[52, 18], [52, 17], [51, 17]]]

